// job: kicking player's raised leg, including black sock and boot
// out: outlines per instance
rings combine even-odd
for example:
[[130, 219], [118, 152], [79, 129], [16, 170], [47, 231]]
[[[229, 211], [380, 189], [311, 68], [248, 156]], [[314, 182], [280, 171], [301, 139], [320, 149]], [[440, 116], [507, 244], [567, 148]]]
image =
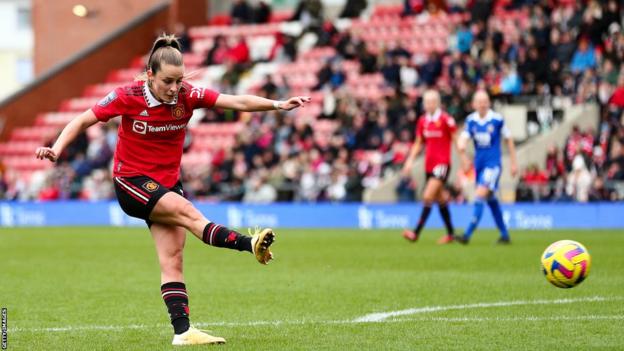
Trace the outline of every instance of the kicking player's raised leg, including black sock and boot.
[[257, 231], [252, 237], [243, 235], [209, 221], [190, 201], [175, 192], [168, 192], [158, 200], [150, 220], [184, 227], [208, 245], [249, 251], [262, 264], [267, 264], [273, 258], [269, 250], [274, 240], [272, 229]]

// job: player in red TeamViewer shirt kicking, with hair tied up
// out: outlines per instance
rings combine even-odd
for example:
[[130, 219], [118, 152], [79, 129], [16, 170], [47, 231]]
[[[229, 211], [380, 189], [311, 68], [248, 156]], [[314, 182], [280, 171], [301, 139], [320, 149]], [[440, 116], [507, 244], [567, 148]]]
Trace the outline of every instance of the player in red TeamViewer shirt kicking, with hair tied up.
[[184, 82], [180, 44], [159, 37], [149, 55], [146, 74], [119, 87], [63, 129], [51, 148], [36, 150], [39, 159], [56, 161], [77, 135], [97, 122], [121, 116], [113, 177], [121, 208], [144, 219], [150, 229], [161, 269], [161, 293], [174, 328], [174, 345], [224, 343], [190, 326], [188, 295], [182, 274], [186, 230], [206, 244], [249, 251], [267, 264], [273, 257], [271, 229], [242, 235], [204, 217], [183, 195], [180, 161], [186, 124], [196, 108], [239, 111], [292, 110], [310, 101], [293, 97], [273, 101], [252, 95], [219, 94]]

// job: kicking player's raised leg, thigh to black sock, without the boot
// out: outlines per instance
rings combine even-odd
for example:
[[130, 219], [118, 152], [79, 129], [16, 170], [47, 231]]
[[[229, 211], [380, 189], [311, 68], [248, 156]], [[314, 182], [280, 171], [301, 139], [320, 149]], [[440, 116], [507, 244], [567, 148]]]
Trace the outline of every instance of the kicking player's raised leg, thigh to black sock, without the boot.
[[168, 192], [158, 200], [150, 214], [150, 220], [184, 227], [212, 246], [253, 252], [251, 237], [212, 223], [190, 201], [174, 192]]

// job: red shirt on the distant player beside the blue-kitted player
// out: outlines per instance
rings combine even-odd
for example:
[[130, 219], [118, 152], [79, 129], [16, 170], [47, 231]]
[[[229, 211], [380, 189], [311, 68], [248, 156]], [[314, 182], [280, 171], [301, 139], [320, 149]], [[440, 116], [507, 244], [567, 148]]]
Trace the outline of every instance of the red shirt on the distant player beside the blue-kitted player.
[[457, 129], [455, 120], [440, 110], [424, 114], [417, 122], [416, 136], [425, 144], [425, 172], [431, 173], [437, 165], [451, 164], [451, 144]]

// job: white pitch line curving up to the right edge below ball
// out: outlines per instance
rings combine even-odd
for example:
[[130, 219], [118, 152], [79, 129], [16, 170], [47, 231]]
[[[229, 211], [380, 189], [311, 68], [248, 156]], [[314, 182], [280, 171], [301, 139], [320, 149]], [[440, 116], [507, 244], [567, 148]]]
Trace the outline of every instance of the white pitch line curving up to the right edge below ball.
[[467, 310], [467, 309], [490, 308], [490, 307], [526, 306], [526, 305], [568, 304], [568, 303], [575, 303], [575, 302], [595, 302], [595, 301], [609, 301], [609, 300], [620, 300], [620, 299], [621, 297], [607, 298], [607, 297], [601, 297], [601, 296], [593, 296], [593, 297], [557, 299], [557, 300], [529, 300], [529, 301], [516, 300], [516, 301], [480, 302], [480, 303], [473, 303], [473, 304], [450, 305], [450, 306], [449, 305], [447, 306], [425, 306], [425, 307], [418, 307], [418, 308], [409, 308], [406, 310], [399, 310], [399, 311], [370, 313], [362, 317], [355, 318], [353, 321], [360, 322], [360, 323], [381, 322], [391, 317], [440, 312], [440, 311]]

